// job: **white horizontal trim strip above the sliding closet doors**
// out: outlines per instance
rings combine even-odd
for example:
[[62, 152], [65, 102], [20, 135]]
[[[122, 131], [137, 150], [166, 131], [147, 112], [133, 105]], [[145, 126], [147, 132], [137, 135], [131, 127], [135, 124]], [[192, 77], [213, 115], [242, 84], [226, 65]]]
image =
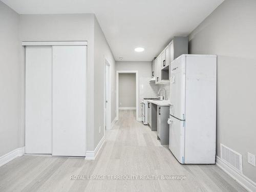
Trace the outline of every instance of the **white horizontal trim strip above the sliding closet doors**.
[[87, 41], [22, 41], [23, 46], [87, 46]]

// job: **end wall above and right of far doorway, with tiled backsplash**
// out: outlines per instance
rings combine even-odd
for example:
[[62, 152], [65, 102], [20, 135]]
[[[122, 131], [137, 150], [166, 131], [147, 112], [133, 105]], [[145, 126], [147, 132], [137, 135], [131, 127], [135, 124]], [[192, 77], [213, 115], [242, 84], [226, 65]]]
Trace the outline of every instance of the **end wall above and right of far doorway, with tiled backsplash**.
[[139, 82], [139, 117], [141, 117], [140, 102], [145, 97], [156, 97], [159, 87], [150, 82], [152, 70], [151, 61], [116, 61], [117, 71], [138, 71]]

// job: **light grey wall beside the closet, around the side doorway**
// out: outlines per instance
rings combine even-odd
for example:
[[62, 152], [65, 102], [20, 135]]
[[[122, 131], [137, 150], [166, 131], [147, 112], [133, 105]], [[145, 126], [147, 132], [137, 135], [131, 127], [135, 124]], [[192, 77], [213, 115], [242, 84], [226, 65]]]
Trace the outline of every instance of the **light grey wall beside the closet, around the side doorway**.
[[[108, 42], [94, 17], [94, 148], [104, 135], [104, 58], [111, 65], [112, 81], [112, 112], [115, 109], [115, 58], [111, 52]], [[114, 102], [113, 102], [114, 100]], [[92, 102], [92, 101], [91, 101]], [[116, 115], [112, 113], [113, 120]], [[100, 132], [99, 132], [100, 130]]]

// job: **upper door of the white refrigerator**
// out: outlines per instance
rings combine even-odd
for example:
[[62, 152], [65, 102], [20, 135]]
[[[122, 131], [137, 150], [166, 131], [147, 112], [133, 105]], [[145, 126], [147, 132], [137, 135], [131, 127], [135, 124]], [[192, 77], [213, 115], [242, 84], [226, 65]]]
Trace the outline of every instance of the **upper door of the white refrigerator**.
[[178, 119], [185, 119], [185, 64], [186, 57], [181, 56], [174, 60], [171, 65], [170, 80], [170, 115]]

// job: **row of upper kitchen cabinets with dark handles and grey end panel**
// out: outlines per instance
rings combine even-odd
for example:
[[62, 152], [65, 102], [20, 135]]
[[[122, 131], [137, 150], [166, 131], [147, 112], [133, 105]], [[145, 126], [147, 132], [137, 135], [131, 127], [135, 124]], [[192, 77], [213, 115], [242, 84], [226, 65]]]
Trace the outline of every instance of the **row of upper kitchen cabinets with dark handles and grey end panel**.
[[[172, 41], [164, 48], [164, 50], [153, 61], [156, 84], [164, 84], [169, 82], [169, 66], [170, 63], [182, 54], [188, 53], [188, 38], [174, 37]], [[153, 64], [152, 64], [153, 66]], [[153, 72], [154, 70], [154, 72]]]

